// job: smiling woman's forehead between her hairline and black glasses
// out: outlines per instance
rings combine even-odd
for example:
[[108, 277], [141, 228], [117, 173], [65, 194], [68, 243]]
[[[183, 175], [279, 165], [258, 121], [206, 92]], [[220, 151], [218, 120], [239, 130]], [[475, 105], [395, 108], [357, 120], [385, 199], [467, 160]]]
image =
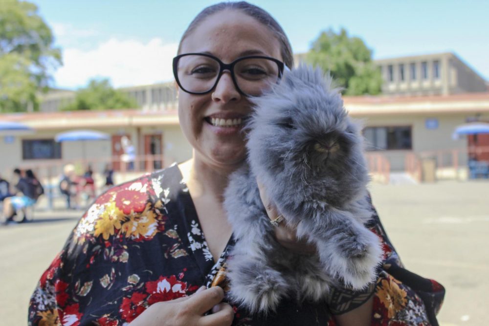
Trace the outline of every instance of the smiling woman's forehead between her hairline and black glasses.
[[283, 60], [280, 42], [270, 29], [236, 10], [222, 10], [200, 22], [183, 40], [181, 53], [210, 53], [229, 61], [245, 55]]

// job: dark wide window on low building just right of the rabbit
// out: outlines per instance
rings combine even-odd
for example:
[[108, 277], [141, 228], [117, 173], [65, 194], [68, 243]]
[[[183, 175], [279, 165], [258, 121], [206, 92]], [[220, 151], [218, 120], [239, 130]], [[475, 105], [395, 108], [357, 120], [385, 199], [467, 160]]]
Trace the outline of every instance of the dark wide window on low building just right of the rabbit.
[[368, 127], [363, 135], [367, 151], [412, 149], [411, 127]]

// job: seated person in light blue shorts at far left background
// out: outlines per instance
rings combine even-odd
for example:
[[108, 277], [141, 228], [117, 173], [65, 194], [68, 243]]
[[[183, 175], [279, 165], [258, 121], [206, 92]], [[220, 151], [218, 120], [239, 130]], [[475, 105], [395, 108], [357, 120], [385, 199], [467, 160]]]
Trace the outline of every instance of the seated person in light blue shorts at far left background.
[[23, 212], [21, 222], [27, 220], [25, 208], [34, 206], [38, 198], [44, 194], [44, 188], [32, 170], [26, 170], [25, 176], [15, 185], [17, 195], [5, 198], [3, 201], [3, 216], [5, 222], [12, 222], [18, 211]]

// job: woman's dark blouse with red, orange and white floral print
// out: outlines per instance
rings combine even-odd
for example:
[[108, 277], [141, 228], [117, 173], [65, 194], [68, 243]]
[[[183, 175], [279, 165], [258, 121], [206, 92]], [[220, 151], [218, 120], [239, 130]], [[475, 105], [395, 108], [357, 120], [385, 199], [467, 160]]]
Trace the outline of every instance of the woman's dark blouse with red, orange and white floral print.
[[[230, 303], [233, 325], [332, 326], [334, 314], [372, 295], [372, 325], [437, 325], [443, 286], [404, 269], [377, 214], [370, 227], [384, 241], [376, 284], [362, 292], [335, 289], [322, 303], [284, 300], [267, 317]], [[201, 285], [225, 288], [225, 262], [234, 244], [231, 238], [214, 262], [176, 165], [112, 187], [83, 215], [41, 276], [28, 325], [124, 326], [151, 304], [190, 295]]]

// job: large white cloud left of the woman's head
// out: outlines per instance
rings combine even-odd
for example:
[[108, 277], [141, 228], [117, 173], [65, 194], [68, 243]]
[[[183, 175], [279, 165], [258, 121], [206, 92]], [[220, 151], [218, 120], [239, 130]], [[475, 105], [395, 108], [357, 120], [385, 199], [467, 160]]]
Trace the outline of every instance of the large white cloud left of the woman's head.
[[64, 65], [54, 73], [54, 79], [57, 87], [67, 88], [84, 87], [95, 77], [110, 78], [114, 87], [169, 81], [177, 48], [177, 43], [164, 44], [159, 38], [146, 44], [110, 39], [90, 51], [66, 48]]

